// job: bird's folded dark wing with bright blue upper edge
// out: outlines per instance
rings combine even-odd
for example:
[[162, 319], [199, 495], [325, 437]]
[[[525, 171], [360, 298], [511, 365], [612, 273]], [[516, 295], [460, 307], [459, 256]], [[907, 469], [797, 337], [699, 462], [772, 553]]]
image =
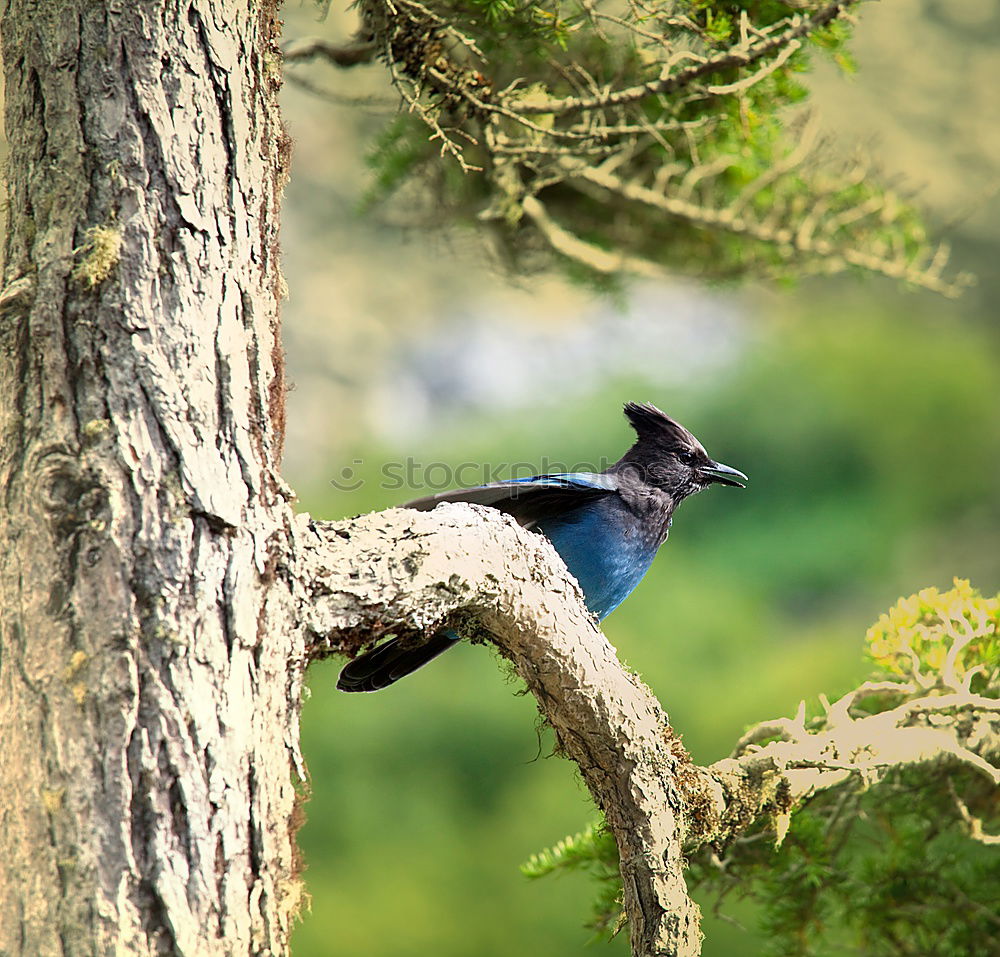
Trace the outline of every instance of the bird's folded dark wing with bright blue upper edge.
[[513, 515], [521, 525], [531, 526], [542, 518], [562, 514], [617, 491], [618, 480], [613, 475], [557, 472], [438, 492], [407, 502], [405, 507], [427, 511], [442, 502], [471, 502], [500, 509]]

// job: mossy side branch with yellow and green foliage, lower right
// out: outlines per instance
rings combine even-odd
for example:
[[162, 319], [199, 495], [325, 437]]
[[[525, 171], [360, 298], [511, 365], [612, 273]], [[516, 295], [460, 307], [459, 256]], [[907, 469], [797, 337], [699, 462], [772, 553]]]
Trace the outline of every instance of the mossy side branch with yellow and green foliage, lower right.
[[[994, 953], [1000, 596], [966, 581], [924, 589], [880, 618], [867, 649], [880, 674], [821, 698], [819, 714], [803, 704], [750, 728], [731, 757], [678, 767], [689, 884], [723, 909], [730, 894], [757, 900], [776, 953], [850, 946], [851, 934], [872, 955], [920, 957], [928, 940], [935, 954]], [[523, 870], [591, 871], [593, 926], [614, 931], [625, 919], [614, 863], [591, 825]], [[955, 898], [961, 921], [949, 917]]]

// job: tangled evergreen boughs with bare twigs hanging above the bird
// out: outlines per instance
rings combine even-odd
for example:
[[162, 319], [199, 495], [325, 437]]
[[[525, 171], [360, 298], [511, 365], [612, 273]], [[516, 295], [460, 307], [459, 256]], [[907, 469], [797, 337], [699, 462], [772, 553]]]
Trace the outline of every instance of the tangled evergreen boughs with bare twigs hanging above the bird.
[[363, 0], [366, 49], [413, 121], [373, 154], [378, 195], [420, 181], [435, 209], [492, 221], [525, 268], [855, 269], [954, 295], [967, 277], [946, 274], [947, 248], [912, 202], [865, 163], [805, 143], [790, 112], [811, 57], [849, 66], [858, 7]]

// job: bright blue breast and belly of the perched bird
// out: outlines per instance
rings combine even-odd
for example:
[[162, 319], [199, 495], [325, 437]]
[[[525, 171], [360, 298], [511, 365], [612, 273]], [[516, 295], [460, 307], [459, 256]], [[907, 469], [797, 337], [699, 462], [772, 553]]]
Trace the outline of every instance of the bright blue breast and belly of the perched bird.
[[555, 546], [598, 618], [631, 594], [659, 547], [618, 496], [543, 519], [536, 528]]

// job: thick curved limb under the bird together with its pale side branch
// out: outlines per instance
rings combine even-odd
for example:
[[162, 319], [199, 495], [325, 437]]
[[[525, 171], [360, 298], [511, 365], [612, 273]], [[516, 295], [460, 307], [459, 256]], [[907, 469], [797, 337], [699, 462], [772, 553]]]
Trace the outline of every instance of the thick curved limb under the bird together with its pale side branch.
[[[1000, 784], [1000, 702], [944, 679], [869, 682], [824, 701], [822, 718], [800, 708], [751, 729], [732, 757], [696, 766], [548, 541], [492, 509], [301, 516], [291, 554], [284, 573], [314, 659], [448, 625], [514, 663], [615, 835], [635, 957], [700, 953], [683, 853], [724, 845], [762, 814], [780, 842], [813, 794], [929, 762]], [[870, 713], [875, 698], [893, 706]]]

